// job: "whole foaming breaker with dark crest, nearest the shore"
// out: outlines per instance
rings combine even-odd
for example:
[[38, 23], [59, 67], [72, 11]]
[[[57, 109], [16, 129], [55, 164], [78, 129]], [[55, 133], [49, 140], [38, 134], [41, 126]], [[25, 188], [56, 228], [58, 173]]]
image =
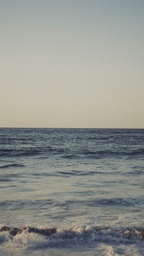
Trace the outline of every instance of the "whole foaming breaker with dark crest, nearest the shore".
[[144, 244], [142, 227], [7, 227], [0, 228], [0, 243], [14, 243], [25, 248], [67, 247], [74, 245], [95, 246], [106, 244]]

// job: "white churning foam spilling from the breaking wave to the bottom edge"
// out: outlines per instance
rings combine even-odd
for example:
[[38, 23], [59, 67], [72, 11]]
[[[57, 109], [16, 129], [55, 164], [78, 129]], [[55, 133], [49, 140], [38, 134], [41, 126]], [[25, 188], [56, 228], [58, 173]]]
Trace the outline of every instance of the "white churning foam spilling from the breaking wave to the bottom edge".
[[[43, 226], [40, 225], [38, 228], [43, 228]], [[48, 228], [48, 226], [45, 226], [45, 228]], [[121, 249], [121, 245], [123, 245], [123, 248], [131, 247], [130, 251], [128, 248], [126, 249], [128, 252], [131, 252], [131, 254], [129, 253], [128, 255], [141, 255], [137, 251], [137, 247], [144, 246], [138, 230], [129, 237], [128, 230], [125, 232], [118, 232], [118, 230], [113, 229], [101, 230], [95, 229], [90, 225], [86, 225], [85, 227], [74, 225], [68, 229], [57, 229], [57, 232], [50, 236], [43, 236], [34, 232], [29, 233], [28, 230], [23, 230], [22, 233], [17, 233], [15, 236], [12, 236], [9, 232], [3, 231], [0, 232], [0, 244], [1, 253], [4, 253], [0, 253], [0, 255], [9, 255], [9, 253], [15, 255], [20, 253], [24, 254], [26, 251], [29, 252], [29, 250], [31, 250], [32, 253], [35, 252], [35, 250], [57, 251], [58, 249], [61, 251], [64, 250], [65, 252], [68, 248], [70, 251], [73, 251], [74, 248], [78, 250], [77, 254], [72, 254], [71, 252], [71, 255], [91, 255], [93, 248], [93, 250], [95, 249], [96, 252], [98, 252], [97, 255], [111, 256], [119, 255], [117, 253], [118, 250], [119, 252], [124, 251], [124, 249]], [[119, 249], [117, 250], [117, 248]], [[82, 254], [82, 251], [88, 251], [88, 254]], [[66, 255], [64, 252], [60, 255]], [[137, 252], [137, 254], [133, 254], [133, 252]], [[43, 255], [50, 254], [47, 253]]]

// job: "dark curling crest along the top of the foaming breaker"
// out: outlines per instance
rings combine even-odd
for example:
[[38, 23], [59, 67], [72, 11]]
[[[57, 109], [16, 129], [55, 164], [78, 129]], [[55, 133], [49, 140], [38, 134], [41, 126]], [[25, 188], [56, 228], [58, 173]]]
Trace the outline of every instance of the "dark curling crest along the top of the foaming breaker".
[[[93, 239], [97, 240], [97, 236], [104, 236], [109, 240], [109, 236], [113, 238], [121, 237], [126, 238], [128, 240], [133, 240], [138, 238], [139, 240], [144, 240], [144, 229], [140, 227], [126, 227], [126, 228], [112, 228], [112, 227], [91, 227], [89, 225], [85, 225], [84, 227], [70, 227], [69, 229], [60, 230], [56, 227], [52, 228], [37, 228], [37, 227], [7, 227], [3, 225], [0, 228], [0, 232], [7, 232], [12, 236], [18, 235], [23, 232], [27, 233], [37, 233], [42, 236], [52, 236], [53, 238], [62, 238], [63, 240], [70, 240], [73, 238], [81, 238], [83, 240], [88, 237], [93, 237]], [[95, 235], [95, 237], [93, 236]], [[106, 241], [105, 241], [106, 242]]]

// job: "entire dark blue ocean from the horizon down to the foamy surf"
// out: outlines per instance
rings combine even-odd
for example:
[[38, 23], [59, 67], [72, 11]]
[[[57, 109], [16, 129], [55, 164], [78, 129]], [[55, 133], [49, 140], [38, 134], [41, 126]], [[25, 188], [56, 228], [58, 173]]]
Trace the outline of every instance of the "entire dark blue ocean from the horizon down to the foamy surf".
[[0, 255], [144, 255], [144, 130], [0, 128]]

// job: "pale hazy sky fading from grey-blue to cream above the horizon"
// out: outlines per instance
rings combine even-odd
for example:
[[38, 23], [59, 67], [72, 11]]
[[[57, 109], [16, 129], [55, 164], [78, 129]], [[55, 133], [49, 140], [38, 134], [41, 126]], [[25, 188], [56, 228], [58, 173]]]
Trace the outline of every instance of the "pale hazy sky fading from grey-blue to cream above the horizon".
[[0, 127], [144, 128], [143, 0], [0, 0]]

